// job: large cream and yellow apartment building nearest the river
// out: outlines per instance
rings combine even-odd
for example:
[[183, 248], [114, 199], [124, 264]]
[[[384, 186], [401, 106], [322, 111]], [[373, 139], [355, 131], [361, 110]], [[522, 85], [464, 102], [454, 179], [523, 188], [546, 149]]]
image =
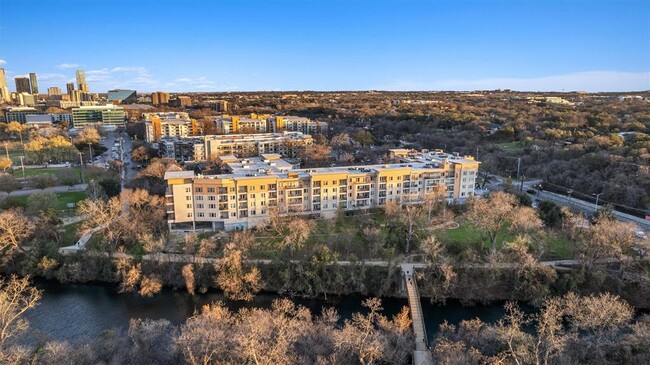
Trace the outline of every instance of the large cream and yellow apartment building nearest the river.
[[[399, 157], [398, 157], [399, 158]], [[474, 195], [479, 162], [442, 151], [406, 156], [412, 162], [296, 169], [277, 154], [222, 156], [229, 173], [197, 175], [172, 168], [167, 181], [167, 221], [172, 230], [241, 230], [268, 223], [269, 212], [334, 217], [344, 210], [421, 203], [446, 194]]]

